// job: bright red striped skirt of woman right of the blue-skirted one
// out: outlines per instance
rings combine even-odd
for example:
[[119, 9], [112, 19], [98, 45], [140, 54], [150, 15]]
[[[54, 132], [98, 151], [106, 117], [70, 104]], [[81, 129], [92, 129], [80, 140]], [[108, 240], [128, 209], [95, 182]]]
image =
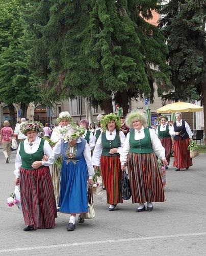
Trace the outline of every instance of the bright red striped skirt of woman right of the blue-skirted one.
[[119, 156], [101, 156], [101, 175], [107, 191], [107, 203], [123, 203], [119, 188], [122, 179], [121, 164]]

